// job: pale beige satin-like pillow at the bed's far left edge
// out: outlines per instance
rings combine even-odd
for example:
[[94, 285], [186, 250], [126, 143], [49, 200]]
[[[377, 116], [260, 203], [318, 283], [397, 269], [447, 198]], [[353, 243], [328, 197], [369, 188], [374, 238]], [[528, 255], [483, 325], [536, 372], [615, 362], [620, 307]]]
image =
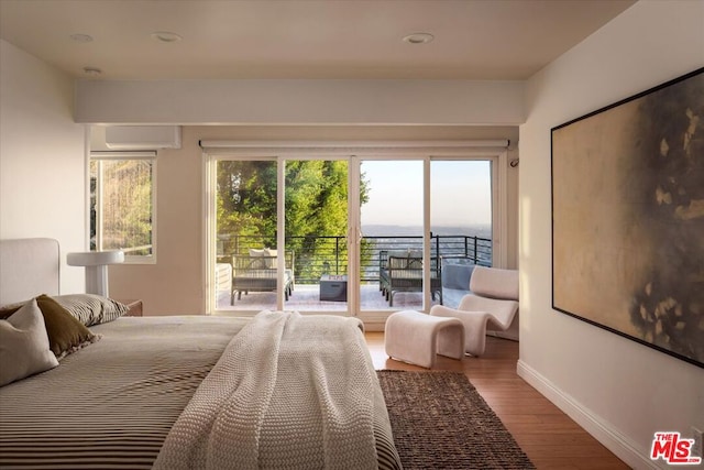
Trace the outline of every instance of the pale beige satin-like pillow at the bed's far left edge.
[[0, 320], [0, 386], [58, 365], [35, 299]]

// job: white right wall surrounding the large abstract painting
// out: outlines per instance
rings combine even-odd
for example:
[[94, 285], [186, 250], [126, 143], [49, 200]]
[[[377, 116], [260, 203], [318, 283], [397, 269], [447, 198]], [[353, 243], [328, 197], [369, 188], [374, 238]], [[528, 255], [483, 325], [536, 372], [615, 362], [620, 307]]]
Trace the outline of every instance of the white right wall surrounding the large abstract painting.
[[635, 468], [654, 431], [704, 428], [704, 369], [551, 308], [550, 129], [703, 65], [704, 2], [642, 1], [527, 86], [518, 371]]

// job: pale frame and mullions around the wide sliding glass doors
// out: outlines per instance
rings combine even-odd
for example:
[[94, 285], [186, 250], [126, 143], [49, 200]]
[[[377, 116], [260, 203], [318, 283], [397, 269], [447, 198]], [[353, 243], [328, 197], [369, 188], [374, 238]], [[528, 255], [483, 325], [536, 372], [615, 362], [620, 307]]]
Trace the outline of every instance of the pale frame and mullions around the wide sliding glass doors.
[[[492, 240], [493, 265], [505, 265], [507, 253], [503, 240], [506, 239], [508, 210], [506, 200], [507, 149], [508, 141], [378, 141], [378, 142], [328, 142], [328, 141], [201, 141], [204, 156], [204, 283], [206, 315], [232, 315], [232, 311], [217, 310], [215, 302], [215, 240], [216, 217], [216, 170], [217, 161], [268, 160], [277, 162], [277, 249], [285, 247], [285, 164], [287, 160], [348, 160], [348, 308], [343, 314], [358, 316], [370, 324], [382, 324], [394, 310], [361, 310], [360, 269], [361, 220], [360, 183], [363, 160], [422, 160], [424, 161], [424, 310], [430, 298], [430, 162], [432, 160], [490, 160], [492, 162]], [[283, 285], [284, 256], [278, 258], [277, 284]], [[277, 288], [276, 308], [284, 309], [284, 292]], [[237, 311], [238, 316], [254, 313]], [[315, 314], [327, 314], [316, 311]], [[340, 315], [341, 311], [330, 311]]]

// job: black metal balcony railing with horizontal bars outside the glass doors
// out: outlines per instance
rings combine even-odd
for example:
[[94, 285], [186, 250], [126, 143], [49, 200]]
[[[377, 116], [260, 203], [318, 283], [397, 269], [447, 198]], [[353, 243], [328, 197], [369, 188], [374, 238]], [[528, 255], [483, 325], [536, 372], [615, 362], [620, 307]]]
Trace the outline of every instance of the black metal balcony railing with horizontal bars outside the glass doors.
[[[346, 274], [346, 237], [310, 236], [287, 237], [286, 250], [296, 253], [297, 284], [318, 284], [322, 274]], [[276, 247], [276, 237], [227, 236], [218, 237], [218, 258], [228, 262], [232, 255], [249, 254], [250, 249]], [[422, 251], [422, 237], [363, 237], [362, 283], [380, 280], [380, 253], [392, 251]], [[439, 256], [442, 264], [466, 263], [492, 265], [492, 240], [471, 236], [437, 236], [430, 238], [430, 255]]]

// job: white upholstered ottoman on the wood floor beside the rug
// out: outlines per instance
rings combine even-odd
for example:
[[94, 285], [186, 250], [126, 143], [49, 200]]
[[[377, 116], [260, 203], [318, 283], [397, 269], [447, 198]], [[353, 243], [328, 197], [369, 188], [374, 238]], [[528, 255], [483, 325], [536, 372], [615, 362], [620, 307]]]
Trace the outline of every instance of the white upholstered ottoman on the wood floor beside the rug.
[[437, 354], [464, 357], [464, 325], [457, 318], [402, 310], [386, 319], [384, 347], [389, 358], [432, 368]]

